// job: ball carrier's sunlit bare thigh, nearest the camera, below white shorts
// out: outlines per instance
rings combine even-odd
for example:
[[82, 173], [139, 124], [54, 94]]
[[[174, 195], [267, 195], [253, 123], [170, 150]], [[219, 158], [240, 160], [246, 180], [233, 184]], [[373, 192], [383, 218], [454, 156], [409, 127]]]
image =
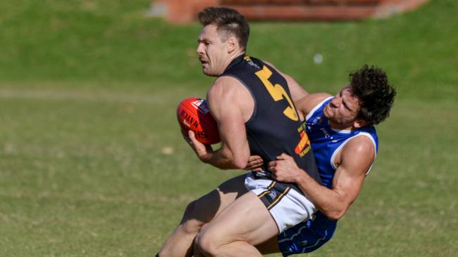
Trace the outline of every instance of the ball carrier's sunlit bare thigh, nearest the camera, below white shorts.
[[256, 245], [278, 235], [278, 228], [259, 197], [248, 192], [223, 209], [201, 235], [218, 244], [244, 241]]

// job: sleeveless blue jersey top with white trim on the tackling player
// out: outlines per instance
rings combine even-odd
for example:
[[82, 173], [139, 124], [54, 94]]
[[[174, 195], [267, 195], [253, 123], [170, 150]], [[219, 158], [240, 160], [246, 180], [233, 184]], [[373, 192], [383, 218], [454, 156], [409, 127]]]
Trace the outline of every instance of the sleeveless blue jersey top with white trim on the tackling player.
[[310, 138], [311, 149], [314, 150], [318, 172], [321, 180], [323, 180], [323, 185], [328, 188], [333, 186], [334, 173], [337, 169], [335, 156], [350, 139], [357, 136], [367, 136], [371, 139], [376, 152], [378, 150], [377, 133], [373, 126], [364, 126], [355, 130], [337, 130], [330, 127], [328, 118], [323, 115], [323, 110], [332, 99], [333, 97], [330, 96], [316, 105], [305, 120], [306, 131]]

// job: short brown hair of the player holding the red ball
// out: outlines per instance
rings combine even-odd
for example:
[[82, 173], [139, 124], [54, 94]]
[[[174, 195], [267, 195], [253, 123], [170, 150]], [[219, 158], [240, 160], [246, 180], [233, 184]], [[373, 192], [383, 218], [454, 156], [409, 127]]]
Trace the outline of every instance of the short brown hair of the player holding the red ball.
[[202, 25], [216, 25], [218, 33], [223, 33], [223, 40], [230, 34], [237, 37], [240, 47], [247, 49], [249, 25], [243, 15], [234, 9], [226, 7], [207, 7], [198, 14]]

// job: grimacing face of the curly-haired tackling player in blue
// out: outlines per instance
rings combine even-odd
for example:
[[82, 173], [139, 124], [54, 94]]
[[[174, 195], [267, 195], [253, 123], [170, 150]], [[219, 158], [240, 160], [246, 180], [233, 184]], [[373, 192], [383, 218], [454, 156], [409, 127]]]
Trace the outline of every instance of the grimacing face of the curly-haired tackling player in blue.
[[335, 129], [352, 129], [359, 109], [359, 99], [352, 95], [352, 88], [347, 86], [326, 105], [323, 114]]

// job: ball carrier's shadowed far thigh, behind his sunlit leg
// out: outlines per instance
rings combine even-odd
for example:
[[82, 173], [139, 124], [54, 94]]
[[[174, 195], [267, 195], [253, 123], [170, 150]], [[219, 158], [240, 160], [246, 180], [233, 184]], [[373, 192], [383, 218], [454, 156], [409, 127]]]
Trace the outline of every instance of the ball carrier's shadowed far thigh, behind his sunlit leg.
[[192, 202], [183, 219], [196, 219], [207, 223], [246, 192], [245, 174], [230, 178], [215, 190]]

